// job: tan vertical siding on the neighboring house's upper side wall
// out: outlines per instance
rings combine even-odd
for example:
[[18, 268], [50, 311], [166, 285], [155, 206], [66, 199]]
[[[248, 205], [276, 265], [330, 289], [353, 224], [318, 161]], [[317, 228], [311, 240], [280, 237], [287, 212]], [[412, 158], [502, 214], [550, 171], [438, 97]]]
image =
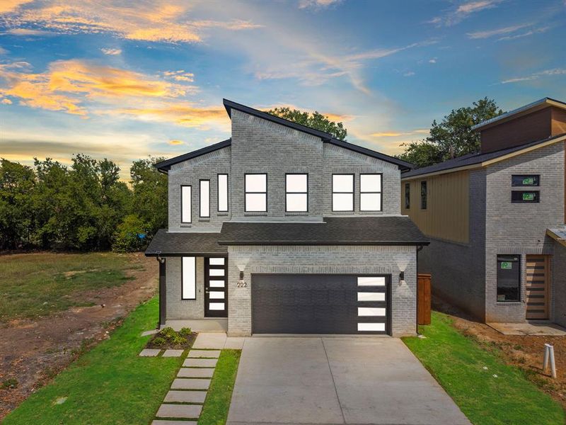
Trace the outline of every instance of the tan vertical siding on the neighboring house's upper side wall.
[[[420, 208], [420, 182], [427, 181], [427, 209]], [[467, 244], [470, 240], [469, 171], [403, 181], [401, 212], [429, 237]], [[410, 183], [410, 208], [405, 208], [405, 183]]]

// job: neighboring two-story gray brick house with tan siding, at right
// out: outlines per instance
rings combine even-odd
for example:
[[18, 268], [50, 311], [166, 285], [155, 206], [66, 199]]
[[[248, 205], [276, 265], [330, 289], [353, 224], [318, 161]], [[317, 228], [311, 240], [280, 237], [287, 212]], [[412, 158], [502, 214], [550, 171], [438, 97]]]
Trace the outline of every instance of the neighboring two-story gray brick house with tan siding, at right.
[[419, 271], [485, 322], [566, 326], [566, 103], [476, 125], [477, 154], [403, 174], [402, 212], [432, 239]]

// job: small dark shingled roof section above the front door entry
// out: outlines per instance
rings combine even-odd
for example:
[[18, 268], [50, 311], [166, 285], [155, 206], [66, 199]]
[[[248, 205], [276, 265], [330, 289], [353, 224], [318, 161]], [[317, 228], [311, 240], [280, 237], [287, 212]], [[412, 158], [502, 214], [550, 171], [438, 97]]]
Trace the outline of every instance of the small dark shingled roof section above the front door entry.
[[219, 233], [167, 232], [159, 229], [146, 249], [146, 256], [179, 256], [203, 254], [227, 254], [226, 246], [217, 242]]

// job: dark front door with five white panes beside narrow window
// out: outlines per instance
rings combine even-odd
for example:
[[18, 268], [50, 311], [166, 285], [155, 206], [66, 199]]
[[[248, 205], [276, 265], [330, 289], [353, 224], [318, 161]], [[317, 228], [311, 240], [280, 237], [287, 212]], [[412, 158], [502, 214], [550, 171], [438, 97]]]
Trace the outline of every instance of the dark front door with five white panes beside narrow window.
[[204, 259], [204, 316], [228, 317], [228, 259]]

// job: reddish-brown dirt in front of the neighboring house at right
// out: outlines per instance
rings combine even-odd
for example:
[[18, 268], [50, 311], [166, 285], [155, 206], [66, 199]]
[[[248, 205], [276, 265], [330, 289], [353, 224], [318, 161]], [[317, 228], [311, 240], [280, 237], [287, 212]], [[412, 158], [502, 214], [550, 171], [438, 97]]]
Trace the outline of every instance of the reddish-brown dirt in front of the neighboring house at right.
[[[504, 335], [441, 300], [434, 299], [433, 307], [451, 315], [454, 326], [463, 334], [478, 341], [485, 349], [497, 352], [505, 363], [524, 370], [529, 380], [566, 409], [566, 336]], [[543, 373], [544, 344], [554, 346], [556, 379], [550, 376], [550, 370]]]

